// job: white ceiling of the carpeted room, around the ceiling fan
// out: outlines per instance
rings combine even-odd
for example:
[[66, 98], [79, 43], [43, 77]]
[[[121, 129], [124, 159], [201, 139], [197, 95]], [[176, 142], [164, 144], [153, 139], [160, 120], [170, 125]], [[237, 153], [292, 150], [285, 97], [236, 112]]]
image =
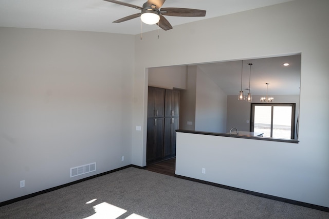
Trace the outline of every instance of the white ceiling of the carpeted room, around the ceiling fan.
[[[137, 6], [142, 6], [146, 2], [146, 0], [121, 1]], [[177, 28], [175, 26], [179, 24], [289, 1], [291, 0], [167, 0], [163, 7], [207, 11], [205, 17], [167, 16], [173, 28]], [[138, 12], [140, 11], [137, 9], [103, 0], [1, 0], [0, 26], [139, 34], [141, 32], [139, 18], [119, 24], [112, 23]], [[143, 24], [142, 26], [142, 32], [157, 29], [156, 25]]]

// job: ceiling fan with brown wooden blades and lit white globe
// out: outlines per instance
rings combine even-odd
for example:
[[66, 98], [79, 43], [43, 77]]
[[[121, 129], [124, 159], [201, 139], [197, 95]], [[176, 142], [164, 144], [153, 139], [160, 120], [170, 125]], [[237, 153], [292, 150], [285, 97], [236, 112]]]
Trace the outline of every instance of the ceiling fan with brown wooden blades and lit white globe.
[[141, 10], [140, 13], [123, 17], [122, 19], [116, 20], [113, 23], [121, 23], [140, 16], [142, 22], [145, 24], [157, 24], [163, 30], [170, 30], [173, 27], [163, 15], [185, 16], [185, 17], [206, 16], [205, 10], [190, 9], [190, 8], [161, 8], [161, 6], [163, 5], [163, 3], [165, 3], [166, 0], [148, 0], [143, 4], [142, 7], [132, 5], [129, 3], [115, 1], [115, 0], [104, 0], [104, 1]]

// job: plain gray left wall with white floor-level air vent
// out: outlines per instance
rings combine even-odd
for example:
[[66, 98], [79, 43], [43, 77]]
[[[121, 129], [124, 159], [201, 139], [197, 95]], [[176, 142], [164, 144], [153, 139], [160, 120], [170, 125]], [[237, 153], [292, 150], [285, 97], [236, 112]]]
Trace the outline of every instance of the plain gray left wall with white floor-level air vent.
[[133, 39], [0, 28], [0, 202], [132, 163]]

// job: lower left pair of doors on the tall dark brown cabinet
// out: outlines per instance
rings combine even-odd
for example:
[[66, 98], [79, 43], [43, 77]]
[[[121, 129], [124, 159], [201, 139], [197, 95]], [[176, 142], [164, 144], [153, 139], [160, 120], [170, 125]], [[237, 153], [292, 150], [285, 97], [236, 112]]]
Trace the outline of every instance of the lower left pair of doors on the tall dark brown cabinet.
[[147, 161], [163, 157], [163, 118], [148, 119]]

